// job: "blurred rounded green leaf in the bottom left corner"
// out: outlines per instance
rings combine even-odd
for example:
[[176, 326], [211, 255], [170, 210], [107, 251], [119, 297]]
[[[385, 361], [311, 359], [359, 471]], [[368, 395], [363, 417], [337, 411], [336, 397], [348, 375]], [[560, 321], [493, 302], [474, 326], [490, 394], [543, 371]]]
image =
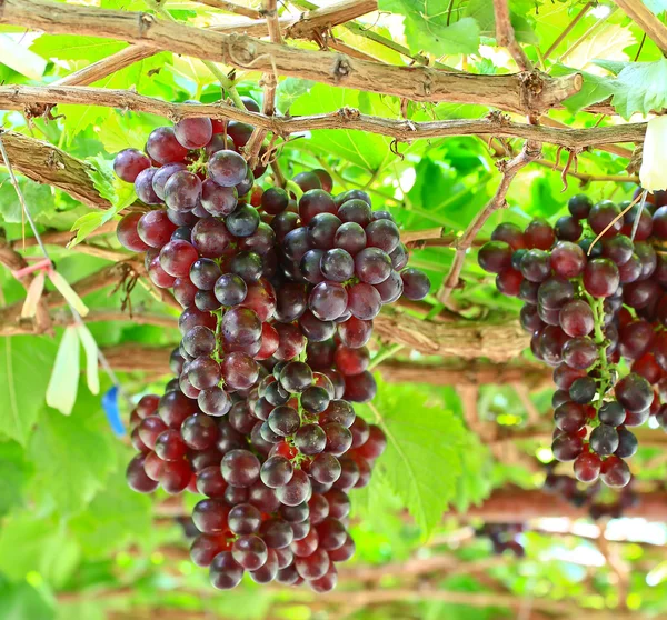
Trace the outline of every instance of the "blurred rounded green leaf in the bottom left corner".
[[10, 579], [23, 579], [37, 571], [54, 586], [62, 586], [79, 558], [79, 547], [68, 536], [64, 523], [42, 514], [12, 514], [0, 530], [0, 571]]

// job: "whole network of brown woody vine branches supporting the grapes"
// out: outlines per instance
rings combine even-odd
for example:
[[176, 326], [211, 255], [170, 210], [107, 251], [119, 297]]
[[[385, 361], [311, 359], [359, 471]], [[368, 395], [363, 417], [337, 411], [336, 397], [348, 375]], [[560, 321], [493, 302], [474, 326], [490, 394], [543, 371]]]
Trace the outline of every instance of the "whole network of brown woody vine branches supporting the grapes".
[[[495, 139], [499, 139], [500, 144], [506, 143], [504, 139], [524, 140], [520, 151], [502, 147], [499, 154], [504, 159], [497, 162], [499, 178], [495, 193], [462, 233], [449, 234], [442, 227], [402, 232], [401, 239], [410, 249], [434, 247], [451, 250], [451, 266], [436, 294], [441, 304], [438, 312], [432, 313], [430, 306], [421, 302], [401, 301], [396, 310], [384, 312], [375, 320], [375, 329], [382, 342], [402, 347], [406, 351], [416, 351], [425, 358], [429, 357], [428, 361], [416, 363], [384, 360], [381, 370], [386, 381], [456, 386], [464, 404], [467, 424], [489, 447], [494, 457], [535, 471], [535, 462], [527, 458], [518, 446], [521, 441], [550, 439], [550, 429], [539, 419], [529, 399], [530, 391], [549, 383], [550, 370], [519, 359], [528, 346], [529, 338], [518, 321], [502, 319], [489, 322], [484, 318], [464, 319], [457, 312], [456, 303], [452, 303], [452, 293], [461, 288], [461, 270], [469, 250], [484, 241], [479, 238], [484, 224], [496, 211], [507, 207], [506, 197], [512, 180], [531, 164], [558, 164], [560, 150], [557, 162], [549, 162], [542, 159], [545, 144], [556, 146], [569, 153], [568, 163], [561, 167], [564, 178], [569, 174], [581, 181], [594, 180], [591, 176], [577, 172], [570, 163], [584, 151], [599, 150], [633, 159], [634, 163], [628, 174], [600, 177], [599, 180], [637, 181], [633, 173], [638, 169], [646, 122], [619, 121], [605, 127], [596, 124], [570, 128], [550, 118], [551, 110], [561, 110], [565, 100], [581, 91], [586, 78], [579, 72], [552, 77], [535, 67], [515, 39], [507, 0], [494, 0], [495, 38], [497, 44], [510, 53], [519, 72], [500, 76], [469, 73], [440, 62], [429, 63], [426, 56], [414, 53], [390, 38], [365, 29], [355, 20], [378, 10], [375, 0], [344, 0], [327, 8], [317, 8], [299, 0], [292, 2], [303, 9], [298, 18], [279, 18], [275, 0], [266, 0], [262, 10], [249, 9], [226, 0], [199, 0], [201, 4], [239, 16], [238, 23], [208, 28], [195, 28], [168, 19], [160, 0], [147, 3], [155, 9], [153, 12], [104, 10], [43, 0], [0, 0], [0, 24], [49, 34], [78, 34], [130, 43], [119, 52], [50, 83], [0, 86], [0, 109], [19, 111], [28, 119], [57, 118], [59, 106], [67, 104], [145, 112], [170, 121], [202, 114], [211, 119], [238, 120], [256, 128], [245, 153], [248, 160], [255, 161], [267, 137], [273, 141], [289, 142], [298, 134], [318, 130], [364, 131], [388, 137], [395, 140], [395, 146], [418, 140], [467, 136], [480, 137], [489, 144]], [[667, 27], [644, 3], [639, 0], [615, 0], [615, 3], [644, 30], [664, 54], [667, 54]], [[332, 36], [332, 29], [336, 27], [342, 27], [362, 38], [371, 38], [374, 42], [386, 46], [408, 59], [410, 64], [385, 63], [366, 51], [337, 40]], [[564, 37], [565, 34], [566, 32], [563, 33]], [[554, 46], [557, 44], [558, 41], [555, 41]], [[162, 51], [211, 63], [216, 78], [228, 92], [228, 98], [215, 103], [172, 103], [132, 90], [90, 86]], [[235, 71], [225, 73], [216, 63], [233, 68], [237, 72], [262, 74], [265, 99], [261, 112], [251, 112], [239, 107], [238, 93], [235, 91]], [[412, 121], [407, 116], [402, 120], [369, 116], [347, 107], [328, 113], [280, 116], [275, 107], [275, 96], [278, 78], [281, 77], [392, 96], [400, 98], [406, 107], [411, 102], [450, 102], [485, 106], [491, 111], [479, 119], [431, 121]], [[616, 110], [610, 100], [605, 100], [586, 106], [579, 113], [615, 116]], [[92, 210], [113, 209], [108, 197], [100, 193], [96, 187], [89, 162], [50, 142], [17, 131], [2, 130], [0, 139], [11, 167], [20, 174], [38, 183], [58, 188]], [[285, 176], [278, 161], [271, 163], [275, 181], [283, 184]], [[121, 213], [136, 208], [140, 207], [130, 206]], [[150, 286], [140, 257], [96, 244], [96, 237], [112, 233], [116, 223], [110, 221], [101, 226], [83, 242], [72, 248], [77, 252], [112, 261], [112, 264], [71, 282], [80, 297], [117, 287], [128, 279], [141, 279]], [[67, 247], [72, 237], [68, 231], [53, 231], [46, 232], [42, 239], [48, 246]], [[11, 242], [1, 240], [0, 263], [12, 271], [26, 268], [29, 263], [23, 250], [34, 244], [32, 238]], [[21, 284], [28, 288], [31, 280], [32, 276], [27, 276], [21, 279]], [[153, 287], [153, 294], [159, 296], [167, 307], [180, 310], [180, 306], [168, 291]], [[22, 300], [3, 306], [0, 308], [0, 336], [52, 334], [54, 328], [72, 323], [73, 319], [69, 314], [59, 311], [64, 304], [66, 300], [59, 292], [48, 292], [41, 298], [33, 319], [21, 317]], [[428, 319], [425, 318], [426, 313]], [[92, 309], [84, 320], [131, 320], [135, 324], [159, 328], [172, 328], [176, 324], [176, 318], [169, 314], [139, 311], [133, 312], [130, 318], [125, 311], [108, 309]], [[168, 372], [170, 350], [171, 347], [147, 347], [137, 343], [102, 348], [106, 359], [117, 371], [143, 371], [149, 377], [161, 377]], [[435, 358], [445, 359], [434, 361]], [[527, 428], [505, 432], [478, 418], [479, 389], [489, 383], [517, 388], [529, 410], [530, 423]], [[641, 429], [637, 436], [645, 447], [667, 447], [667, 436], [660, 431]], [[667, 502], [661, 491], [647, 487], [641, 488], [639, 494], [641, 503], [629, 508], [626, 516], [655, 521], [667, 519]], [[160, 504], [157, 511], [158, 517], [163, 519], [182, 516], [182, 507], [170, 501]], [[466, 519], [482, 518], [486, 522], [509, 522], [536, 517], [576, 519], [585, 514], [585, 509], [575, 508], [540, 491], [516, 489], [494, 492], [481, 506], [470, 508]], [[447, 517], [446, 514], [445, 518]], [[471, 529], [464, 526], [460, 536], [462, 539], [470, 538], [470, 532]], [[598, 531], [597, 537], [604, 541], [604, 530]], [[179, 551], [173, 551], [173, 554], [176, 558], [185, 557]], [[341, 573], [344, 582], [372, 584], [395, 576], [407, 578], [408, 586], [398, 589], [369, 588], [368, 591], [356, 593], [332, 593], [313, 604], [315, 608], [320, 606], [322, 609], [329, 609], [330, 606], [355, 609], [421, 597], [444, 603], [508, 607], [520, 611], [521, 601], [504, 592], [459, 594], [438, 590], [428, 583], [418, 593], [409, 589], [410, 580], [418, 583], [424, 576], [454, 570], [455, 564], [452, 558], [442, 556], [427, 560], [416, 558], [407, 564], [389, 564], [381, 570], [354, 567]], [[488, 566], [472, 566], [471, 571], [484, 574]], [[113, 592], [109, 592], [109, 596], [112, 597]], [[63, 596], [63, 600], [67, 600], [67, 594]], [[542, 613], [540, 618], [568, 617], [578, 611], [575, 606], [568, 608], [552, 601], [536, 601], [534, 609]], [[604, 611], [590, 614], [600, 619], [609, 617]], [[168, 611], [161, 612], [161, 616], [167, 620], [170, 618]], [[615, 611], [614, 616], [625, 617], [620, 611]], [[129, 617], [119, 611], [113, 618], [122, 620]], [[173, 618], [183, 620], [186, 617], [178, 614]], [[192, 612], [191, 618], [203, 616]]]

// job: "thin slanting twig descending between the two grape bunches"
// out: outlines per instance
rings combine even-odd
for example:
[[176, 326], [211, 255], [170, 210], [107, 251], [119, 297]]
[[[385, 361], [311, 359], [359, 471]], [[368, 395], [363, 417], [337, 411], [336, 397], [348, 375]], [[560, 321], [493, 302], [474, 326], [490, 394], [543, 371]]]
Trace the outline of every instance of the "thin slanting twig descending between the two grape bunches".
[[531, 161], [535, 161], [539, 158], [541, 152], [541, 148], [539, 144], [536, 144], [532, 141], [526, 142], [524, 150], [511, 161], [499, 161], [497, 166], [500, 168], [502, 172], [502, 179], [500, 180], [500, 184], [496, 190], [496, 194], [491, 199], [491, 201], [481, 210], [475, 219], [470, 222], [466, 232], [464, 232], [462, 237], [457, 239], [455, 247], [456, 253], [454, 256], [454, 260], [451, 262], [451, 267], [449, 268], [449, 274], [445, 280], [445, 284], [442, 289], [438, 293], [438, 301], [440, 303], [447, 303], [449, 300], [449, 296], [451, 291], [459, 283], [459, 276], [461, 269], [464, 267], [464, 261], [466, 259], [466, 252], [472, 246], [472, 241], [477, 233], [481, 230], [481, 227], [486, 223], [491, 214], [494, 214], [498, 209], [502, 209], [506, 207], [505, 197], [507, 196], [507, 190], [509, 189], [509, 184], [516, 177], [517, 172], [528, 166]]

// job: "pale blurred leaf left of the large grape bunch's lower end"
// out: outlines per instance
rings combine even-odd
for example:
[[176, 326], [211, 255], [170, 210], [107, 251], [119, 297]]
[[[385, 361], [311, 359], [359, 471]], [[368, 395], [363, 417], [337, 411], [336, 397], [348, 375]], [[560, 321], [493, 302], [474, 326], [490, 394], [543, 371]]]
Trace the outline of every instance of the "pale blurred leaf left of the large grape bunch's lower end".
[[[123, 459], [126, 459], [123, 451]], [[87, 557], [100, 557], [149, 537], [152, 524], [151, 501], [133, 492], [117, 471], [84, 512], [70, 526]]]

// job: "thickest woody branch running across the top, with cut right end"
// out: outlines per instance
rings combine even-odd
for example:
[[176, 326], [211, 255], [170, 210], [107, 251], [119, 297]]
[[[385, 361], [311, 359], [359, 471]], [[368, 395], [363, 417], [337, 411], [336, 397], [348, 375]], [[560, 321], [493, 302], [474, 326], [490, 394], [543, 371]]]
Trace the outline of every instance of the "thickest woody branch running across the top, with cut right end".
[[[482, 103], [519, 113], [541, 113], [578, 92], [580, 74], [550, 78], [472, 76], [428, 67], [395, 67], [340, 53], [288, 48], [258, 39], [193, 28], [155, 17], [43, 0], [4, 0], [0, 23], [48, 33], [121, 39], [225, 62], [243, 70], [272, 71], [317, 82], [406, 97], [415, 101]], [[48, 102], [47, 102], [48, 103]]]

